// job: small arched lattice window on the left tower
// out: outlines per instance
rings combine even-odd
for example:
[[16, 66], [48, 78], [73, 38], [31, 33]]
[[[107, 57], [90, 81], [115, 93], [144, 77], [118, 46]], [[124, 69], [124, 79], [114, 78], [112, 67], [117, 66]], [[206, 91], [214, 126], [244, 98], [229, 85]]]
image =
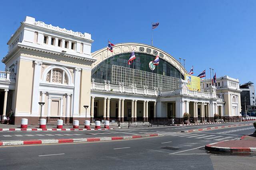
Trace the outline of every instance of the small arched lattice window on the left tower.
[[47, 73], [46, 82], [68, 84], [68, 78], [64, 70], [53, 68]]

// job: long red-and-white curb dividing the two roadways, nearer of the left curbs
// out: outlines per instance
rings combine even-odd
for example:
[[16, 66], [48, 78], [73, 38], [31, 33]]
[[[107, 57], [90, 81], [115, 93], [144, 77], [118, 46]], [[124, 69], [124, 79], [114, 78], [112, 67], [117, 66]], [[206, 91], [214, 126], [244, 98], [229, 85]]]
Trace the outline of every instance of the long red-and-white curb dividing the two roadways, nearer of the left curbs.
[[0, 146], [116, 141], [116, 140], [138, 139], [138, 138], [156, 137], [156, 136], [159, 136], [159, 134], [153, 133], [153, 134], [146, 134], [146, 135], [133, 135], [133, 136], [123, 136], [123, 137], [94, 137], [94, 138], [74, 138], [74, 139], [41, 139], [41, 140], [28, 140], [28, 141], [0, 141]]

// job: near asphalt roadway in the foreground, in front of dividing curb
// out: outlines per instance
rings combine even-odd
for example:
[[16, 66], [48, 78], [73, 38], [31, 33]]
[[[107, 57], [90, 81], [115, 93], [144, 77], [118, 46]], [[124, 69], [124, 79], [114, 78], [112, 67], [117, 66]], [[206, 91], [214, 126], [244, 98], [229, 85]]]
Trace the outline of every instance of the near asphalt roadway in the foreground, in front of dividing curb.
[[255, 155], [219, 155], [204, 150], [204, 145], [216, 139], [236, 139], [253, 132], [250, 126], [244, 126], [194, 133], [172, 132], [161, 137], [125, 141], [0, 147], [0, 166], [1, 169], [26, 170], [255, 169]]

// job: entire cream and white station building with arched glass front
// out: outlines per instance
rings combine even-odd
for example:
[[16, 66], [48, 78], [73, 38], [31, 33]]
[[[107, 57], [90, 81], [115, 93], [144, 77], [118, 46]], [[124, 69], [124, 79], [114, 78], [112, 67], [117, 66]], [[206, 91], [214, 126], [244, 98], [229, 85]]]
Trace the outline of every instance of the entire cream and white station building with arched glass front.
[[[186, 69], [171, 55], [150, 45], [120, 43], [91, 53], [88, 33], [74, 32], [26, 17], [8, 41], [0, 71], [0, 118], [14, 111], [14, 123], [63, 119], [150, 121], [174, 118], [183, 123], [241, 117], [238, 79], [223, 76], [201, 91], [189, 90]], [[128, 65], [130, 53], [136, 59]], [[149, 62], [156, 55], [154, 70]], [[39, 102], [43, 102], [42, 109]], [[88, 107], [85, 109], [85, 107]]]

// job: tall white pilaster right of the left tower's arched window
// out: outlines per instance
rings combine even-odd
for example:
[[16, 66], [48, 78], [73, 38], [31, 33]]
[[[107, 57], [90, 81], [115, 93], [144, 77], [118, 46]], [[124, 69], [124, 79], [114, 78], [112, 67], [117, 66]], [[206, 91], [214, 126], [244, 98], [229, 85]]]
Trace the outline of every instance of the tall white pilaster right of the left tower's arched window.
[[73, 116], [79, 115], [81, 68], [74, 69]]

